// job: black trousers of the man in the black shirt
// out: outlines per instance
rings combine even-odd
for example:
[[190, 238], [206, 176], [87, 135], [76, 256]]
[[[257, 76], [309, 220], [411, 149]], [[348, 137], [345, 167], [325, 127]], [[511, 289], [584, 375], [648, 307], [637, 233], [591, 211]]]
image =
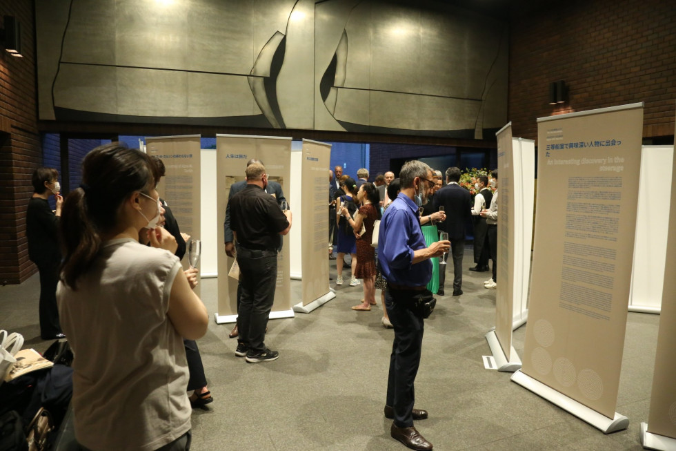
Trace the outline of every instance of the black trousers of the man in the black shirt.
[[275, 301], [277, 251], [237, 248], [241, 298], [237, 317], [239, 341], [252, 352], [264, 352], [268, 316]]

